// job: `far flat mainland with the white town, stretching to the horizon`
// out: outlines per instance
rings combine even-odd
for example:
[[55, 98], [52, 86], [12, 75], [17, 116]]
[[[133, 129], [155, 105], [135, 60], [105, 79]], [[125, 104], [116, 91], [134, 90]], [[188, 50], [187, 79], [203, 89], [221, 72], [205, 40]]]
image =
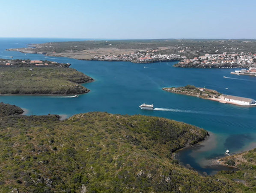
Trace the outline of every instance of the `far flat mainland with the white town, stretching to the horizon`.
[[255, 45], [256, 40], [90, 40], [32, 44], [8, 50], [79, 60], [177, 61], [174, 66], [183, 68], [250, 68], [256, 67]]

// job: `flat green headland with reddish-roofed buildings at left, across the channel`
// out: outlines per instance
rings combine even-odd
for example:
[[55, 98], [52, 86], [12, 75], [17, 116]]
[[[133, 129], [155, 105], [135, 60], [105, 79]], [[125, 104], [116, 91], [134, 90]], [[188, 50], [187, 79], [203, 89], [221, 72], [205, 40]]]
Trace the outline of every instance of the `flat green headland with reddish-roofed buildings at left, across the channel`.
[[80, 84], [93, 79], [69, 66], [48, 60], [0, 59], [0, 95], [77, 95], [89, 92]]

